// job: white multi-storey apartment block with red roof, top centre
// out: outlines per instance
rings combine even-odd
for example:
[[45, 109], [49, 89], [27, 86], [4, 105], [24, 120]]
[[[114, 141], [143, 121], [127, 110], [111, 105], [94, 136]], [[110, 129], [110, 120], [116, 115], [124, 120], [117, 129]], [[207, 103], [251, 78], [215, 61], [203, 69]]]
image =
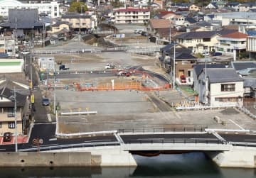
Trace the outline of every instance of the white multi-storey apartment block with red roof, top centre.
[[125, 8], [114, 12], [115, 23], [148, 23], [150, 19], [149, 9]]

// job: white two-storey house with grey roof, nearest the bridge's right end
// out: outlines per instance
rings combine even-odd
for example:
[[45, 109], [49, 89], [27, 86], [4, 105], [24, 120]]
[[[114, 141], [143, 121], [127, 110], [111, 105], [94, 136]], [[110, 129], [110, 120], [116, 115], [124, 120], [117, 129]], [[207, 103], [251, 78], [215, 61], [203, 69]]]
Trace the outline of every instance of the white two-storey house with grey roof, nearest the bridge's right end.
[[203, 69], [198, 77], [199, 102], [214, 106], [242, 106], [243, 79], [231, 68]]

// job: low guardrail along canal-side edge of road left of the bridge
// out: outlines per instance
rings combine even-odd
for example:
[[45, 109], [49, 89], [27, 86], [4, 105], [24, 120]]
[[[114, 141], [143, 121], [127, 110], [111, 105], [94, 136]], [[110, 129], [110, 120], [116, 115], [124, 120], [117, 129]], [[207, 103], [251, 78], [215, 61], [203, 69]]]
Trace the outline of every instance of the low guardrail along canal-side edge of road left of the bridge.
[[[51, 145], [51, 146], [40, 146], [40, 151], [48, 151], [48, 150], [63, 150], [68, 148], [88, 148], [88, 147], [99, 147], [99, 146], [115, 146], [120, 145], [119, 142], [104, 142], [104, 143], [78, 143], [78, 144], [70, 144], [70, 145]], [[29, 151], [38, 151], [38, 148], [25, 148], [19, 149], [20, 152], [29, 152]]]

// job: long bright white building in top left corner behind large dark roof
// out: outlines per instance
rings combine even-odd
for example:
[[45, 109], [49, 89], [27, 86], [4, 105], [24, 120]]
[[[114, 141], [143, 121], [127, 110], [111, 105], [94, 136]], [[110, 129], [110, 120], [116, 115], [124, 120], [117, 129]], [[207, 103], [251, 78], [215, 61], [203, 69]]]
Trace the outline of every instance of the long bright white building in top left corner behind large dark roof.
[[0, 0], [0, 16], [8, 16], [9, 9], [38, 9], [38, 13], [47, 13], [49, 17], [60, 16], [58, 2], [25, 4], [16, 0]]

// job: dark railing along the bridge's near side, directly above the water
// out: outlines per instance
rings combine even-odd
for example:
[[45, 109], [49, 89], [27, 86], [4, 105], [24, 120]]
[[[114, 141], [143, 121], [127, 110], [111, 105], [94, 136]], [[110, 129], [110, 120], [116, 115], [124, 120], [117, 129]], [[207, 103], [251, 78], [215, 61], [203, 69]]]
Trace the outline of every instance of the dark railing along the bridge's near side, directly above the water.
[[211, 139], [145, 139], [145, 140], [126, 140], [124, 142], [125, 144], [156, 144], [156, 143], [160, 143], [160, 144], [164, 144], [164, 143], [194, 143], [194, 144], [197, 144], [197, 143], [203, 143], [203, 144], [221, 144], [221, 145], [226, 145], [228, 144], [227, 141], [225, 140], [211, 140]]

